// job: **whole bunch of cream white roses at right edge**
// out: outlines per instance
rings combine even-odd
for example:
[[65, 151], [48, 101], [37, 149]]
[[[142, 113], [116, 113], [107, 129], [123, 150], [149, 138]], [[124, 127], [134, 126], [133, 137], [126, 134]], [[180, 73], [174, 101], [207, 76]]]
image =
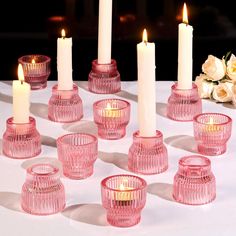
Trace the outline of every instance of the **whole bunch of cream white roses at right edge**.
[[201, 98], [236, 105], [236, 57], [231, 52], [219, 59], [209, 55], [195, 79]]

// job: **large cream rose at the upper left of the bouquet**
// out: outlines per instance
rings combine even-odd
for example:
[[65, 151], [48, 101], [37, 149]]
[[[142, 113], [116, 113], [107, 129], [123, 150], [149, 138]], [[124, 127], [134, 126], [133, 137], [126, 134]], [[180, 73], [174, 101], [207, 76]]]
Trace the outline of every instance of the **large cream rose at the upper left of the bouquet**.
[[202, 65], [202, 71], [213, 81], [221, 80], [226, 73], [225, 60], [209, 55]]

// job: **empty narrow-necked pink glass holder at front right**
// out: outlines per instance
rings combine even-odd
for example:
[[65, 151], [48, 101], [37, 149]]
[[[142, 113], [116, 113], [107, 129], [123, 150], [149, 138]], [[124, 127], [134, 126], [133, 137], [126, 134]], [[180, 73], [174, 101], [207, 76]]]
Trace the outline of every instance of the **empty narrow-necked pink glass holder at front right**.
[[173, 197], [188, 205], [207, 204], [216, 198], [215, 176], [208, 158], [193, 155], [180, 159], [174, 177]]

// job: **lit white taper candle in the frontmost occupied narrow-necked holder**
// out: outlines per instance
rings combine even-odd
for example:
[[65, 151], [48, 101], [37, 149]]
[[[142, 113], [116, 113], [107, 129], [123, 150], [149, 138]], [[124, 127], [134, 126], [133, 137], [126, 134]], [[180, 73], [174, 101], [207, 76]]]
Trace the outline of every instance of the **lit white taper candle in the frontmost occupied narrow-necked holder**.
[[155, 44], [148, 42], [146, 30], [137, 54], [139, 132], [143, 137], [152, 137], [156, 135]]

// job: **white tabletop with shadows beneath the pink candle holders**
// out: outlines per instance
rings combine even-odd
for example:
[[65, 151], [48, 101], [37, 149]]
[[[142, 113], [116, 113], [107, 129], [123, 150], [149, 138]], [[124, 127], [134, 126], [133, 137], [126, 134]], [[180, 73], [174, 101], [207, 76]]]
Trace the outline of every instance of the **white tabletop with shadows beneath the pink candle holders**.
[[[157, 129], [164, 135], [169, 153], [169, 168], [158, 175], [142, 176], [148, 183], [147, 203], [141, 222], [130, 228], [116, 228], [107, 224], [106, 212], [101, 205], [100, 182], [119, 173], [133, 174], [127, 170], [127, 153], [132, 144], [132, 134], [137, 126], [137, 83], [122, 82], [122, 91], [116, 95], [97, 95], [87, 91], [87, 82], [78, 82], [83, 100], [84, 118], [75, 123], [53, 123], [47, 119], [47, 103], [51, 96], [50, 81], [44, 90], [31, 94], [31, 115], [42, 136], [42, 153], [28, 160], [9, 159], [0, 153], [0, 236], [20, 235], [230, 235], [236, 234], [236, 127], [228, 142], [227, 152], [209, 157], [216, 176], [217, 197], [210, 204], [187, 206], [172, 197], [173, 177], [182, 156], [196, 154], [192, 122], [176, 122], [165, 116], [166, 103], [173, 82], [157, 82]], [[77, 82], [76, 82], [77, 83]], [[148, 92], [148, 91], [147, 91]], [[0, 150], [6, 119], [12, 116], [11, 82], [0, 82]], [[117, 141], [99, 139], [99, 158], [94, 174], [85, 180], [70, 180], [62, 176], [66, 190], [66, 209], [51, 216], [33, 216], [20, 208], [21, 186], [26, 168], [33, 163], [50, 162], [61, 168], [57, 159], [55, 140], [66, 133], [88, 132], [96, 134], [92, 104], [99, 99], [118, 97], [131, 103], [131, 121], [127, 134]], [[221, 112], [235, 117], [231, 105], [204, 100], [203, 112]]]

